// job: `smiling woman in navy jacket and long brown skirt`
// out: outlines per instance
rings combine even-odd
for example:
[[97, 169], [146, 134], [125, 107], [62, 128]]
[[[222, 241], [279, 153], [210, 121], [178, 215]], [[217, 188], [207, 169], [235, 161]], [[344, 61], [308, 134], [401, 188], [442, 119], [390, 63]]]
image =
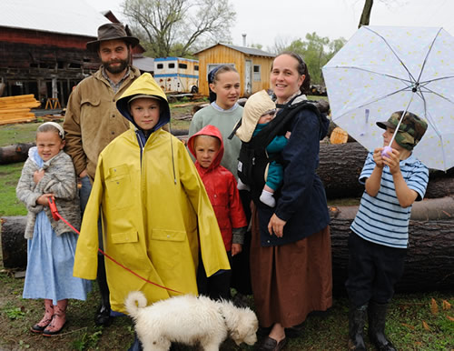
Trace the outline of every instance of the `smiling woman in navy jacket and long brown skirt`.
[[[278, 55], [271, 67], [271, 87], [279, 109], [306, 99], [301, 85], [309, 74], [299, 55]], [[285, 329], [299, 326], [314, 310], [331, 306], [330, 216], [319, 176], [320, 138], [329, 122], [309, 109], [291, 120], [291, 136], [281, 156], [281, 194], [271, 208], [257, 203], [252, 216], [252, 292], [262, 327], [270, 328], [261, 350], [281, 350]]]

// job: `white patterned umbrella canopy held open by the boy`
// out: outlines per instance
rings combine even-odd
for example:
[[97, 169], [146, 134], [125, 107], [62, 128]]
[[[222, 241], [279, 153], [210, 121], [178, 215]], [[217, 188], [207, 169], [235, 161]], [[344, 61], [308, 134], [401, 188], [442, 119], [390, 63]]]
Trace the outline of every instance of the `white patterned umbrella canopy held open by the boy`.
[[429, 168], [454, 165], [454, 37], [442, 28], [362, 26], [322, 68], [331, 119], [368, 150], [377, 121], [409, 111], [429, 127], [414, 149]]

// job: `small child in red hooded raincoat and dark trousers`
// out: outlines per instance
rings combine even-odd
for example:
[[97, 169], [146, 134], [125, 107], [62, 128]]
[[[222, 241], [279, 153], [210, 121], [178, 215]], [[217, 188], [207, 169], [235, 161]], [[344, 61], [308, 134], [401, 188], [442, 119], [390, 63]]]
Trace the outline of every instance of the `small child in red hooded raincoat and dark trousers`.
[[[189, 138], [188, 148], [196, 159], [195, 167], [212, 203], [232, 265], [232, 256], [242, 252], [247, 221], [235, 177], [221, 165], [224, 153], [221, 131], [214, 125], [206, 125]], [[208, 278], [201, 262], [197, 272], [199, 294], [229, 299], [231, 278], [231, 271]]]

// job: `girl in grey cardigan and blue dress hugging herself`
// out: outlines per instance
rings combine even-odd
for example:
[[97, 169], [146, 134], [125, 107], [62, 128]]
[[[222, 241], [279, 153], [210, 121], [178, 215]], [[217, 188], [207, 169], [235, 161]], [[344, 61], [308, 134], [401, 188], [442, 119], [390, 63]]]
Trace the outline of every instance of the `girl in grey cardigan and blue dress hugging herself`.
[[91, 287], [73, 276], [76, 234], [63, 221], [56, 222], [49, 209], [49, 197], [54, 196], [59, 213], [80, 226], [74, 165], [63, 148], [63, 127], [54, 122], [40, 125], [16, 188], [28, 210], [24, 298], [44, 298], [44, 316], [31, 328], [44, 336], [54, 336], [64, 327], [68, 298], [85, 300]]

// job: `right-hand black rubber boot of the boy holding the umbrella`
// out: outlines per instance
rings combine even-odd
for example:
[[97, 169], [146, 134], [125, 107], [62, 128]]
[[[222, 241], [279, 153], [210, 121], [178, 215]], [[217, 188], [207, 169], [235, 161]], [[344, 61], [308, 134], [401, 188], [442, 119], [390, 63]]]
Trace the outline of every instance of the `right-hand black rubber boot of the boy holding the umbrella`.
[[371, 301], [368, 309], [370, 342], [380, 351], [396, 351], [385, 336], [386, 314], [388, 304], [377, 304]]

